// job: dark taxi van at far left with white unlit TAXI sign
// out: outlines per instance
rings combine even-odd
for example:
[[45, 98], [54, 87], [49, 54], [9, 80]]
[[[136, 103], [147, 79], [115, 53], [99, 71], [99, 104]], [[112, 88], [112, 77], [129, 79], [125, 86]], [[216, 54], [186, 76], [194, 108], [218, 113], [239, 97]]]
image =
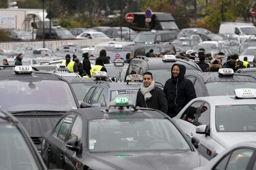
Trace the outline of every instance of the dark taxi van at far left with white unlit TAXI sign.
[[1, 108], [19, 119], [38, 150], [43, 134], [66, 111], [79, 108], [74, 92], [61, 76], [32, 71], [28, 66], [0, 70], [0, 94]]

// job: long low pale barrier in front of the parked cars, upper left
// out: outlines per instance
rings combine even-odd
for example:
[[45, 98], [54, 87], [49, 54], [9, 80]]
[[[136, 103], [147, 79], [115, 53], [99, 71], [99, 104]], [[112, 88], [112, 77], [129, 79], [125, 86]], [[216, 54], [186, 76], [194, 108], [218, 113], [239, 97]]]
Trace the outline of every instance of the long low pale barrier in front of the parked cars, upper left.
[[[45, 48], [54, 50], [62, 45], [69, 43], [76, 45], [96, 46], [100, 42], [106, 42], [111, 39], [66, 39], [66, 40], [45, 40]], [[35, 49], [43, 48], [43, 41], [15, 41], [15, 42], [0, 42], [0, 49], [17, 50], [24, 47], [32, 46]]]

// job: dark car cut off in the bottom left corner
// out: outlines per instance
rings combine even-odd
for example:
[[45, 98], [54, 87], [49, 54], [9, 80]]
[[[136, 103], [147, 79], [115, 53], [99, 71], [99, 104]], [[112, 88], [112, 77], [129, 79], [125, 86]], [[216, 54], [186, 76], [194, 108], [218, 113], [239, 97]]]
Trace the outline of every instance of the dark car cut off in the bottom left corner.
[[19, 120], [2, 110], [0, 136], [0, 169], [47, 169]]

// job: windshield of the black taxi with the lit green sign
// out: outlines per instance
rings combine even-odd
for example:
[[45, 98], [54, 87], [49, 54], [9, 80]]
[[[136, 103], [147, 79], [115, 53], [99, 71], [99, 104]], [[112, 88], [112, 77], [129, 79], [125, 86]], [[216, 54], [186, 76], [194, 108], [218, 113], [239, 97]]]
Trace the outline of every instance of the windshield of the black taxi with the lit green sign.
[[190, 150], [171, 121], [155, 118], [91, 120], [88, 144], [90, 152]]

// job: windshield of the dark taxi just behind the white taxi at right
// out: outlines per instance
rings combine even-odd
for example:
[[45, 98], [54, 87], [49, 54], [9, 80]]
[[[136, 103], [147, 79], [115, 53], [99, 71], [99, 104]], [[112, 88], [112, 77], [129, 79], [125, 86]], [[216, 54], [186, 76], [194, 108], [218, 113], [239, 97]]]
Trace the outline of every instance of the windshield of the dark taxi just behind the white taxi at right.
[[209, 96], [215, 95], [235, 95], [234, 89], [255, 88], [255, 82], [216, 82], [207, 83], [207, 91]]

